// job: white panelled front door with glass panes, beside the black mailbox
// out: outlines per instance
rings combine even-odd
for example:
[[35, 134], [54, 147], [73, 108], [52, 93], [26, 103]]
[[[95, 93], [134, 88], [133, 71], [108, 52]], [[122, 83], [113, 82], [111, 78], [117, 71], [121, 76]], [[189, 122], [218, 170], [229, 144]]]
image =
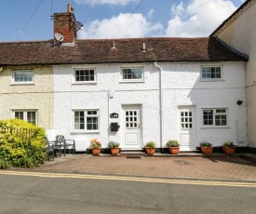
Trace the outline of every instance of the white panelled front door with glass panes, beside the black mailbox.
[[123, 138], [122, 148], [129, 150], [141, 149], [141, 106], [123, 106], [122, 127]]

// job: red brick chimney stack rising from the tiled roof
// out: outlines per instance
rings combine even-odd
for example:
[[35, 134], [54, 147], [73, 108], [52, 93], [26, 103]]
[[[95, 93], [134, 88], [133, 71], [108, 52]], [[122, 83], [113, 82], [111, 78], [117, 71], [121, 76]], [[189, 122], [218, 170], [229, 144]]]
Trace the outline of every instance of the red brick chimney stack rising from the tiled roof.
[[[61, 33], [63, 36], [62, 43], [74, 43], [76, 40], [74, 9], [68, 5], [66, 13], [54, 13], [54, 34]], [[54, 36], [54, 43], [60, 43]]]

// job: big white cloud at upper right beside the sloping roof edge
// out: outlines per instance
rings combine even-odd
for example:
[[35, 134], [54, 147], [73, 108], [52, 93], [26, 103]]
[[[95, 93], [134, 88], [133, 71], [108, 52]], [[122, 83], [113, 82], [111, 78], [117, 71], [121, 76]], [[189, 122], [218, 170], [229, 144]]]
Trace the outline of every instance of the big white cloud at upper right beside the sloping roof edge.
[[172, 19], [168, 21], [167, 36], [209, 36], [236, 7], [226, 0], [192, 0], [190, 4], [171, 7]]

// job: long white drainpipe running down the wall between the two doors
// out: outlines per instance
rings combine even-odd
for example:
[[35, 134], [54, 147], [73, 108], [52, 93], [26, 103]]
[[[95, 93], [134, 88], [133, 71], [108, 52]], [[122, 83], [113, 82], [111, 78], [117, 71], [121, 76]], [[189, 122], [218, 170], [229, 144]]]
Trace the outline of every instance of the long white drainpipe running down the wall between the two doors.
[[159, 69], [159, 107], [160, 107], [160, 147], [163, 153], [163, 87], [162, 87], [162, 67], [155, 61], [155, 67]]

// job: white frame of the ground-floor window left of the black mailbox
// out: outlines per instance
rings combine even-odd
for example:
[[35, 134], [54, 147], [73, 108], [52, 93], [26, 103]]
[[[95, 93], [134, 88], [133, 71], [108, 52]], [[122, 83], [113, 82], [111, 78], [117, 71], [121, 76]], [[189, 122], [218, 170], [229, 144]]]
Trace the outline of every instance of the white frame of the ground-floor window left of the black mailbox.
[[[97, 114], [88, 114], [89, 112], [97, 112]], [[84, 128], [76, 128], [75, 113], [84, 113]], [[97, 129], [88, 129], [88, 117], [97, 118]], [[78, 125], [79, 126], [79, 125]], [[100, 110], [99, 109], [78, 109], [73, 110], [73, 131], [74, 132], [100, 132]]]

